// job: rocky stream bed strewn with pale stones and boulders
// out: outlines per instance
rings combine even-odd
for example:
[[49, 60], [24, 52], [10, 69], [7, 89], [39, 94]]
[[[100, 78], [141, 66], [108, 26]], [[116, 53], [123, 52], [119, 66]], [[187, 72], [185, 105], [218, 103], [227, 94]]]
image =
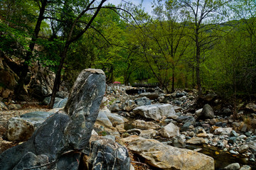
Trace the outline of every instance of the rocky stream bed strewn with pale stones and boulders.
[[[93, 127], [92, 133], [96, 136], [90, 139], [90, 147], [82, 152], [84, 161], [81, 166], [87, 169], [92, 169], [96, 164], [105, 167], [117, 160], [129, 164], [127, 147], [130, 157], [134, 154], [139, 158], [132, 159], [132, 164], [135, 168], [138, 164], [142, 165], [140, 169], [255, 168], [255, 103], [245, 104], [242, 107], [244, 110], [240, 110], [235, 119], [232, 116], [233, 109], [230, 106], [223, 107], [215, 94], [206, 95], [201, 101], [203, 104], [198, 104], [196, 91], [164, 94], [156, 89], [153, 93], [131, 96], [126, 93], [129, 89], [131, 87], [122, 85], [107, 86]], [[71, 105], [80, 108], [76, 104]], [[66, 107], [72, 108], [70, 103]], [[55, 109], [61, 111], [61, 108]], [[38, 123], [42, 123], [41, 119], [46, 120], [49, 113], [55, 112], [48, 111], [43, 116], [42, 113], [28, 113], [21, 118], [10, 119], [6, 125], [13, 123], [24, 129], [33, 127], [32, 131], [25, 130], [32, 135], [40, 127]], [[6, 132], [9, 132], [8, 128]], [[21, 131], [16, 130], [14, 136], [17, 137], [19, 133]], [[71, 137], [70, 142], [78, 138]], [[22, 140], [19, 138], [14, 141]], [[102, 159], [100, 154], [104, 154], [104, 157], [110, 155], [110, 158]], [[100, 163], [94, 162], [96, 159]]]

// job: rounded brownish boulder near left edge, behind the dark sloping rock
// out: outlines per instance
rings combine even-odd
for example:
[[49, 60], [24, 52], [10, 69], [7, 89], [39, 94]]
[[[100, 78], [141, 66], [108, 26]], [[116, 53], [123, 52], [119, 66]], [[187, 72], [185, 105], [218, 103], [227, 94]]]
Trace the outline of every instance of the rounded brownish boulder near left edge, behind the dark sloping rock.
[[7, 123], [6, 136], [9, 141], [28, 140], [33, 132], [33, 124], [21, 118], [11, 118]]

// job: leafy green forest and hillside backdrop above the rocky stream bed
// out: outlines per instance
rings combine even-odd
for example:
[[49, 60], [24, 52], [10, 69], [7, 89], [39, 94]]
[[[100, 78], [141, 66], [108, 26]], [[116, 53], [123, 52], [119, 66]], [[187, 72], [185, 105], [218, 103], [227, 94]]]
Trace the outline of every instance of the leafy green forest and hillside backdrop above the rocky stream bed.
[[[153, 13], [107, 0], [3, 0], [0, 6], [1, 57], [18, 63], [16, 98], [28, 93], [23, 85], [33, 64], [55, 72], [53, 98], [85, 68], [102, 69], [107, 83], [159, 83], [167, 92], [256, 92], [254, 0], [154, 1]], [[8, 86], [3, 79], [0, 85]]]

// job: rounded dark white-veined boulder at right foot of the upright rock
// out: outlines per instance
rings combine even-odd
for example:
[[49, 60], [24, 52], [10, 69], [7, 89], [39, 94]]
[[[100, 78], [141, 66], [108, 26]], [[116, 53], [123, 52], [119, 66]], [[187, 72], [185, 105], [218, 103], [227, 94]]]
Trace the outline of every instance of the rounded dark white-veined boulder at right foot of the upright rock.
[[130, 158], [126, 147], [113, 140], [92, 135], [90, 145], [82, 150], [82, 161], [87, 169], [92, 170], [129, 170]]

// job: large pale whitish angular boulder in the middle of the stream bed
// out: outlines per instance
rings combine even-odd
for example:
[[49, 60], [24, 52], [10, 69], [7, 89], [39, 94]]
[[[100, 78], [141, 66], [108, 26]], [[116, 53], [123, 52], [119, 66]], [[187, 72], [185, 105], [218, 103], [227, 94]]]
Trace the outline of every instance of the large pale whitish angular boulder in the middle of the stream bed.
[[174, 113], [174, 106], [170, 104], [154, 104], [149, 106], [139, 106], [134, 108], [133, 112], [135, 114], [140, 114], [145, 118], [151, 118], [154, 120], [160, 120], [163, 116]]

